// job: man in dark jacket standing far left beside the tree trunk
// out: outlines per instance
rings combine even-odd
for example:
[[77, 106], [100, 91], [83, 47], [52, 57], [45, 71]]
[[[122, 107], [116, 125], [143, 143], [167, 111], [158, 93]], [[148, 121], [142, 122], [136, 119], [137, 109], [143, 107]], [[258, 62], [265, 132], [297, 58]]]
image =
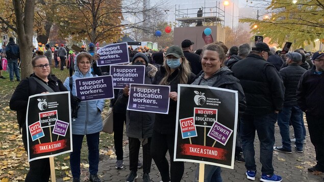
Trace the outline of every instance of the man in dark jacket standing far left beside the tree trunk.
[[18, 59], [20, 60], [19, 46], [15, 44], [12, 37], [9, 38], [9, 43], [6, 46], [6, 56], [9, 68], [10, 81], [14, 81], [13, 74], [16, 75], [16, 81], [20, 82], [20, 73], [18, 68]]

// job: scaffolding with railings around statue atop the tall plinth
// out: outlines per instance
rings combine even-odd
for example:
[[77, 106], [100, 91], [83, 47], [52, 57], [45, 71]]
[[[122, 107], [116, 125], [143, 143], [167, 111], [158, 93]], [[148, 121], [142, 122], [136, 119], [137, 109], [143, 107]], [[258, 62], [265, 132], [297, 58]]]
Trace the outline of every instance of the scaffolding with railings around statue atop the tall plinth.
[[[203, 23], [204, 26], [220, 24], [222, 28], [225, 27], [225, 11], [221, 10], [221, 3], [216, 2], [215, 7], [201, 7], [201, 8], [190, 8], [181, 9], [180, 5], [176, 5], [176, 21], [178, 21], [178, 27], [181, 27], [183, 23], [199, 24]], [[178, 7], [177, 7], [178, 6]], [[202, 13], [197, 13], [198, 10], [202, 9]], [[198, 15], [200, 14], [200, 15]], [[198, 17], [200, 16], [200, 17]]]

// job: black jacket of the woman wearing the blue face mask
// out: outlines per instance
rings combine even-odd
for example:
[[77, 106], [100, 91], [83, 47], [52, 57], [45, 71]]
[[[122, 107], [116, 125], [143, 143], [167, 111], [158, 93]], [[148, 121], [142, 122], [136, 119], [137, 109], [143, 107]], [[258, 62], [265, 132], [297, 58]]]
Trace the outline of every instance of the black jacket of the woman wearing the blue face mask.
[[[161, 66], [158, 72], [155, 74], [153, 84], [159, 85], [163, 79], [166, 70], [164, 66]], [[170, 81], [170, 92], [178, 92], [178, 84], [180, 84], [181, 70], [176, 69], [169, 77]], [[187, 84], [191, 84], [194, 81], [195, 74], [191, 73], [188, 78]], [[170, 99], [169, 112], [168, 114], [156, 114], [154, 131], [160, 134], [175, 135], [176, 131], [176, 118], [177, 116], [177, 101]]]

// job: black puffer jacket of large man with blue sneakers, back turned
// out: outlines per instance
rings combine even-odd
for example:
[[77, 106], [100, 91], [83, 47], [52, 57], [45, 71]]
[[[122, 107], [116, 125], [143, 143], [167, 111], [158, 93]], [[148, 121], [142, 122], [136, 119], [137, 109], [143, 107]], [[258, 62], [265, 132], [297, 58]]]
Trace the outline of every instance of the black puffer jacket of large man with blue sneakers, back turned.
[[282, 110], [285, 87], [275, 66], [259, 55], [249, 54], [234, 64], [232, 71], [246, 97], [245, 114], [264, 115]]

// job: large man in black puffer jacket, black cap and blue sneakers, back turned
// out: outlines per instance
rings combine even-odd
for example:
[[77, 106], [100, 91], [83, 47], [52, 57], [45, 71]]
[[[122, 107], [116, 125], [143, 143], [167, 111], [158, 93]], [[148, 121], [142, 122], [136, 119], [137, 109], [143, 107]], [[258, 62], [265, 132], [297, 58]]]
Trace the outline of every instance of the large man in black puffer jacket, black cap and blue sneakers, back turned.
[[273, 173], [272, 152], [275, 144], [275, 123], [284, 101], [284, 84], [275, 66], [267, 62], [271, 55], [269, 46], [260, 42], [250, 54], [232, 67], [240, 80], [245, 97], [246, 110], [241, 116], [241, 138], [247, 179], [255, 180], [254, 139], [257, 130], [260, 140], [261, 181], [281, 181]]

